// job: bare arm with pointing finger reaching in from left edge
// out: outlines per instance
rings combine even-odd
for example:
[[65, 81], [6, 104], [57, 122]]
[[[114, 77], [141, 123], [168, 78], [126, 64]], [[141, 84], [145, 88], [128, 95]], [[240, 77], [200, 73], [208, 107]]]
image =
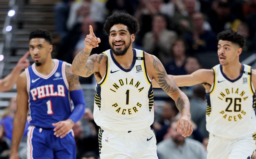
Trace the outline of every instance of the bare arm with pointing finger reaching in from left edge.
[[29, 52], [25, 53], [20, 60], [18, 61], [17, 65], [12, 69], [12, 72], [0, 79], [0, 92], [1, 91], [9, 91], [12, 89], [13, 85], [16, 83], [18, 77], [20, 76], [20, 72], [29, 66], [29, 60], [27, 59]]

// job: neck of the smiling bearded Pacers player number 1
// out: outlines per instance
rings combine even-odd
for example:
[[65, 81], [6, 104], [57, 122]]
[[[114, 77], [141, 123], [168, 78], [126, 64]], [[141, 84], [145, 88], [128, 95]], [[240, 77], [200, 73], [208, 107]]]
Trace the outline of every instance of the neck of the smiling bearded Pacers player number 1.
[[123, 56], [116, 56], [115, 54], [113, 55], [116, 61], [119, 63], [119, 65], [121, 65], [124, 69], [131, 68], [133, 60], [132, 47], [130, 47]]

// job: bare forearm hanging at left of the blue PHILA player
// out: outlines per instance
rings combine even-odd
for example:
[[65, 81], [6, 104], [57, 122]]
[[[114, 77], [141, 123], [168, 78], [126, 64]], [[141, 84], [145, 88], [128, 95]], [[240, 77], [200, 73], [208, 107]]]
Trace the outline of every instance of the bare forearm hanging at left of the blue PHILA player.
[[22, 117], [20, 115], [15, 115], [13, 121], [13, 130], [12, 130], [12, 153], [18, 153], [20, 141], [23, 136], [24, 128], [26, 124], [26, 116]]

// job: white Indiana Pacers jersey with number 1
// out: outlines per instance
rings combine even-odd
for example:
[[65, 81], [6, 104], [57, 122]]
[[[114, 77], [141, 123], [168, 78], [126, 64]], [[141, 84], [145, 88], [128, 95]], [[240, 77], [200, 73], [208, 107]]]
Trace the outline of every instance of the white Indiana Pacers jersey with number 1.
[[131, 68], [124, 69], [113, 56], [107, 55], [106, 74], [97, 83], [94, 120], [103, 130], [136, 131], [154, 121], [153, 89], [146, 71], [144, 52], [133, 50]]

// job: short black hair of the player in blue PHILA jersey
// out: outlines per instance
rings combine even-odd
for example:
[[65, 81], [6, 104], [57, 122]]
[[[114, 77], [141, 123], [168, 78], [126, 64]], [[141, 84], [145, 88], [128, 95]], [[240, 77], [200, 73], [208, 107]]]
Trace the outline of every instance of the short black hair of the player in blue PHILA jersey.
[[36, 29], [30, 32], [29, 34], [29, 41], [33, 38], [44, 38], [46, 41], [48, 41], [52, 45], [52, 34], [45, 29]]

